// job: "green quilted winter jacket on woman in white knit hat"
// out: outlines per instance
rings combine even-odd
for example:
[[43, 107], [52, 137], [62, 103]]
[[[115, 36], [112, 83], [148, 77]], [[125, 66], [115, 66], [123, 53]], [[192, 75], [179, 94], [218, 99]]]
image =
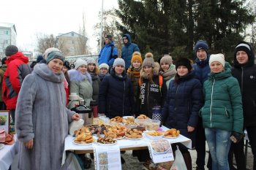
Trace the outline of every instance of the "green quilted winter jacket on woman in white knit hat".
[[238, 81], [232, 77], [230, 64], [225, 71], [208, 74], [203, 84], [205, 104], [200, 109], [204, 128], [243, 132], [243, 109]]

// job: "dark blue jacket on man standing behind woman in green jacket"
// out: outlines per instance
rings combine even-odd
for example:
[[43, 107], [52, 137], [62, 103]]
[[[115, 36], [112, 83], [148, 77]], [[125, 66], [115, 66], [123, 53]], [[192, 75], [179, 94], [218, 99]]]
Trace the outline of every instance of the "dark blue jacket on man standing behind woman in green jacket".
[[195, 72], [195, 78], [200, 80], [201, 84], [208, 80], [208, 73], [211, 72], [209, 66], [210, 55], [207, 55], [207, 59], [205, 61], [200, 61], [198, 58], [195, 59], [195, 63], [193, 64], [193, 69]]

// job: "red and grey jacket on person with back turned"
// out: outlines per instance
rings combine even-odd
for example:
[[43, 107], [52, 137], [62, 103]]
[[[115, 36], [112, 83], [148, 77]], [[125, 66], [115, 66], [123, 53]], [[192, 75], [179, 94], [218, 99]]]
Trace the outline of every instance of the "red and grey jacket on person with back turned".
[[18, 52], [7, 59], [7, 70], [4, 73], [2, 96], [7, 109], [15, 109], [18, 93], [26, 75], [31, 73], [29, 58]]

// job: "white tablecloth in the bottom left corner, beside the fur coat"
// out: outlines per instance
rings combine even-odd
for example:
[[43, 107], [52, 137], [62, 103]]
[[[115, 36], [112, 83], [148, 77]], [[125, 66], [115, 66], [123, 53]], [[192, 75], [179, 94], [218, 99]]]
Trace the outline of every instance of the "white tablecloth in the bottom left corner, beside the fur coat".
[[0, 150], [0, 169], [7, 170], [10, 168], [15, 155], [18, 153], [18, 139], [14, 136], [15, 143], [12, 145], [4, 145]]

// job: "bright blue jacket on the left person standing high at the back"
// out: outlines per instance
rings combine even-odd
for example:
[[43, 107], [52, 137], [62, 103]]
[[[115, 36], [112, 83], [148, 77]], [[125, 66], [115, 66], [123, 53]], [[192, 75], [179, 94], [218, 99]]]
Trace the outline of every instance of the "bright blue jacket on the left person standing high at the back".
[[111, 46], [115, 46], [115, 43], [113, 41], [110, 42], [110, 44], [105, 45], [105, 47], [102, 47], [102, 50], [100, 50], [98, 59], [99, 65], [102, 63], [107, 63], [108, 66], [113, 65], [115, 58], [112, 58], [111, 56], [117, 56], [118, 50], [116, 47], [113, 47], [113, 53], [111, 54]]

